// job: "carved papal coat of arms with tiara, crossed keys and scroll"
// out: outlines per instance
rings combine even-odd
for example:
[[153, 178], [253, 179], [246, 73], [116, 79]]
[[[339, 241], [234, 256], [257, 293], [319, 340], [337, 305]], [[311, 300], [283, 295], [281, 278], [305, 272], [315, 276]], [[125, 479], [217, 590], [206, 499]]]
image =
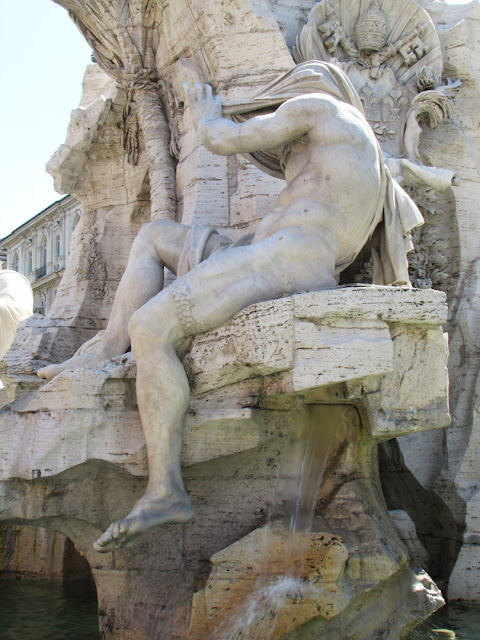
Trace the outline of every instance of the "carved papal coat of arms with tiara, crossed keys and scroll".
[[392, 177], [404, 187], [443, 191], [448, 169], [422, 164], [422, 126], [435, 128], [453, 111], [460, 82], [441, 84], [440, 41], [428, 14], [413, 0], [321, 0], [297, 37], [297, 63], [340, 67], [356, 88]]

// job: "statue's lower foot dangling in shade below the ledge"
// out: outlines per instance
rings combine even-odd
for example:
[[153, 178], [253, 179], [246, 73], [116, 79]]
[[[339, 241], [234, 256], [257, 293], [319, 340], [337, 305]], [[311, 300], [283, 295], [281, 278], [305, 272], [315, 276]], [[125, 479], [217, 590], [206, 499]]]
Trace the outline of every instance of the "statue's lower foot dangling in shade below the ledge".
[[190, 498], [180, 499], [143, 496], [126, 518], [111, 524], [93, 543], [95, 551], [108, 553], [120, 547], [129, 547], [147, 529], [158, 524], [183, 524], [193, 516]]

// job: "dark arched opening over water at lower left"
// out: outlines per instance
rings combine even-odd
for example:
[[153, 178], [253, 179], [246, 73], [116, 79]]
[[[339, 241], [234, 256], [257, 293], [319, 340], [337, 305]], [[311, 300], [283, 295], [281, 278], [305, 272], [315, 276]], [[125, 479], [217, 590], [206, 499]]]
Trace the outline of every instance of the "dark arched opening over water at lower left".
[[95, 582], [87, 560], [57, 531], [0, 527], [0, 619], [12, 635], [100, 638]]

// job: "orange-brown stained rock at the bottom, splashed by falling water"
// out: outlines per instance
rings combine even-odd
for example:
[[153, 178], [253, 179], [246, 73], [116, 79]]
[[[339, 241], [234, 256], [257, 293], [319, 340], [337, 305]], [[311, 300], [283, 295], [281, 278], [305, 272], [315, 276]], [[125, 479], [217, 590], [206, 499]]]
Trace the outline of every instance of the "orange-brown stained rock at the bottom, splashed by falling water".
[[[443, 598], [427, 574], [405, 566], [401, 553], [395, 566], [386, 547], [383, 555], [379, 551], [365, 559], [363, 571], [370, 579], [358, 580], [338, 536], [311, 533], [303, 561], [292, 567], [285, 563], [285, 530], [257, 529], [212, 557], [207, 585], [193, 599], [187, 638], [344, 640], [370, 638], [379, 630], [382, 638], [404, 637], [417, 616], [431, 613]], [[413, 604], [413, 615], [407, 603]], [[369, 614], [366, 624], [349, 614], [359, 608]]]

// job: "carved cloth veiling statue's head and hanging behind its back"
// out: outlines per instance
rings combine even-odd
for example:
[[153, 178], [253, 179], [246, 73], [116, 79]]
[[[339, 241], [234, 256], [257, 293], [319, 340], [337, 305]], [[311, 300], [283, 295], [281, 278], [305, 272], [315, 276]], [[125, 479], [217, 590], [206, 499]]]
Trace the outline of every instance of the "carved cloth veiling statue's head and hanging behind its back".
[[[248, 118], [271, 113], [282, 103], [297, 96], [308, 94], [326, 94], [357, 108], [362, 115], [360, 98], [347, 76], [335, 65], [311, 60], [297, 65], [263, 89], [253, 98], [243, 101], [227, 102], [223, 105], [223, 114], [237, 122]], [[410, 285], [406, 254], [413, 249], [410, 232], [423, 224], [423, 217], [413, 200], [397, 184], [383, 159], [378, 145], [382, 169], [379, 185], [379, 204], [372, 211], [371, 226], [366, 230], [373, 238], [374, 284]], [[274, 149], [246, 154], [259, 169], [277, 178], [284, 178], [278, 152]], [[358, 252], [362, 249], [359, 238]], [[354, 256], [338, 265], [339, 271], [351, 263]]]

